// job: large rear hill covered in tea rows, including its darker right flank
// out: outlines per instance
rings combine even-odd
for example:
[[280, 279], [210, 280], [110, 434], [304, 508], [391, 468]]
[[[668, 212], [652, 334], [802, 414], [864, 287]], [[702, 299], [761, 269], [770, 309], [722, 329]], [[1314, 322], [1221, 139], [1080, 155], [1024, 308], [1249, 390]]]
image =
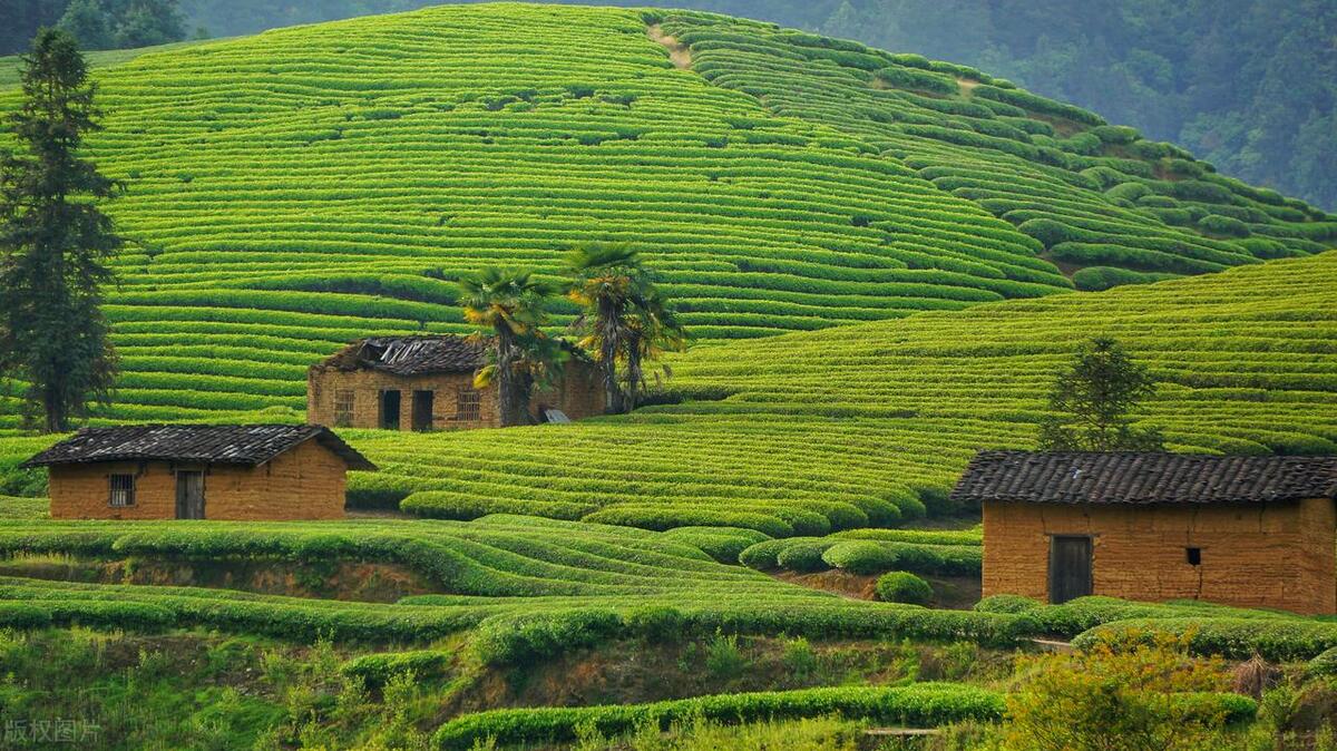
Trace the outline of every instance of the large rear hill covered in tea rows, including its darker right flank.
[[1215, 271], [1337, 226], [984, 73], [723, 16], [440, 7], [98, 76], [88, 151], [132, 241], [112, 421], [299, 420], [309, 363], [464, 330], [460, 274], [552, 274], [588, 241], [642, 250], [711, 341]]

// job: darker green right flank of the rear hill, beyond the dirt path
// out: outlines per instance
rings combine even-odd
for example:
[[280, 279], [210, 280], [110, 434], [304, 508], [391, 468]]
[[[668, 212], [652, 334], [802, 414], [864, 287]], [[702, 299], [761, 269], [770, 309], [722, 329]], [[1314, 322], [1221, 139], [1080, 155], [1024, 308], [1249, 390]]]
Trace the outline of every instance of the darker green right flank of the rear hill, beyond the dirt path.
[[[769, 24], [674, 13], [663, 31], [717, 86], [829, 124], [1016, 224], [1082, 289], [1318, 253], [1337, 223], [1214, 174], [1092, 112], [973, 68]], [[820, 71], [820, 72], [817, 72]]]

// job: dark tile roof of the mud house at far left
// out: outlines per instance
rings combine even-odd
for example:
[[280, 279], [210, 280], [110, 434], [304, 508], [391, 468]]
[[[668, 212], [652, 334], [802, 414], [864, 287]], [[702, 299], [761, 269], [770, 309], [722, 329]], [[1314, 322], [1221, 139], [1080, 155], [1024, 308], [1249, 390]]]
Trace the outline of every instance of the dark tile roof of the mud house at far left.
[[84, 428], [23, 466], [99, 461], [178, 461], [255, 466], [316, 438], [349, 469], [376, 465], [322, 425], [127, 425]]

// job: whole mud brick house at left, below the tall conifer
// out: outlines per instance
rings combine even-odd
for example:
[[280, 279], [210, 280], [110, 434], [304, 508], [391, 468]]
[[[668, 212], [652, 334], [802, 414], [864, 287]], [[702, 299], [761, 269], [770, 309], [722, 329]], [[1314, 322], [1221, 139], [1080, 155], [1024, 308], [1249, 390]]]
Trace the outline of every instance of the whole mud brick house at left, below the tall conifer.
[[344, 518], [349, 469], [376, 465], [320, 425], [84, 429], [32, 457], [52, 518]]

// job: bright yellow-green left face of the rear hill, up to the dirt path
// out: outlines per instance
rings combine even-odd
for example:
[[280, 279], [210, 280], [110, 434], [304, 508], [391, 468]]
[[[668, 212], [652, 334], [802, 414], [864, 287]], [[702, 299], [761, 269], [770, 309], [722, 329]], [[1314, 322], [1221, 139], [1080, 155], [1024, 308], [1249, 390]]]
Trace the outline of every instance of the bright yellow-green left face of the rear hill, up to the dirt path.
[[107, 416], [301, 410], [305, 367], [340, 343], [464, 330], [460, 274], [551, 275], [584, 242], [642, 251], [705, 338], [1071, 289], [1005, 222], [677, 69], [647, 28], [619, 8], [441, 7], [100, 69], [86, 152], [127, 182], [108, 211], [134, 241]]

